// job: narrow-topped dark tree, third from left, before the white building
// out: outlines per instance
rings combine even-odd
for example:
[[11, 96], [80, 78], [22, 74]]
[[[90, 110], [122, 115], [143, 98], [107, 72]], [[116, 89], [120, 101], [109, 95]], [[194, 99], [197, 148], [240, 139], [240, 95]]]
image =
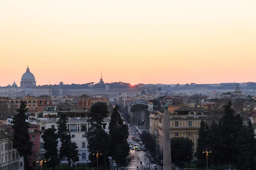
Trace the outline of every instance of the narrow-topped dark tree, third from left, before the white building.
[[79, 161], [78, 150], [75, 142], [71, 142], [70, 130], [67, 128], [67, 115], [60, 114], [58, 124], [58, 136], [61, 140], [60, 154], [59, 158], [65, 156], [68, 161], [68, 166], [70, 170], [71, 160], [73, 162]]

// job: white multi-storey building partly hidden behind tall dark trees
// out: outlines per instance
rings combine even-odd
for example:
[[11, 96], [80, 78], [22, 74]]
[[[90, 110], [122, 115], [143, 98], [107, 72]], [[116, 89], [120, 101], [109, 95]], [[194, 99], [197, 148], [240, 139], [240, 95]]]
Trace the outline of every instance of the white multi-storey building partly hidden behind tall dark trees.
[[[56, 107], [47, 107], [44, 111], [40, 113], [36, 113], [36, 119], [38, 125], [40, 125], [42, 133], [44, 133], [44, 130], [48, 128], [55, 128], [57, 129], [57, 121], [59, 114], [65, 114], [67, 115], [68, 122], [67, 127], [70, 130], [70, 135], [72, 137], [72, 142], [76, 142], [78, 146], [78, 151], [80, 154], [79, 158], [79, 164], [81, 163], [87, 163], [89, 162], [89, 150], [87, 148], [87, 138], [85, 136], [85, 132], [88, 131], [89, 127], [91, 125], [87, 122], [87, 114], [88, 111], [59, 111], [57, 112]], [[108, 132], [108, 125], [110, 123], [110, 117], [104, 119], [104, 122], [107, 123], [107, 125], [103, 126], [103, 129], [105, 129], [106, 132]], [[58, 142], [58, 148], [61, 146], [61, 142]], [[44, 160], [44, 141], [41, 138], [40, 139], [40, 149], [41, 149], [41, 158]], [[63, 158], [61, 160], [61, 163], [67, 163], [66, 158]]]

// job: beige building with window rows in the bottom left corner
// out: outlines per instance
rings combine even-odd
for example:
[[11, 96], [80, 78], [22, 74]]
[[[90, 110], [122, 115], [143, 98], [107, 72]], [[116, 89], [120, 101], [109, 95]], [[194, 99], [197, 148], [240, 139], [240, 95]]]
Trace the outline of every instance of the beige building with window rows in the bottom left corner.
[[19, 156], [17, 150], [12, 147], [12, 127], [0, 125], [0, 169], [1, 170], [23, 170], [23, 157]]

